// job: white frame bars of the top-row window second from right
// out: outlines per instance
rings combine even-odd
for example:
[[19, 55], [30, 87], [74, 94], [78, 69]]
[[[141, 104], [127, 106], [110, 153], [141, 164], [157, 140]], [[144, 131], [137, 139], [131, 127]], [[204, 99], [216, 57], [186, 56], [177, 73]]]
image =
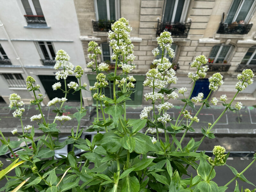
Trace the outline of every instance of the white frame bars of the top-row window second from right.
[[[175, 15], [176, 15], [176, 12], [177, 12], [177, 6], [178, 6], [178, 3], [179, 3], [179, 0], [174, 0], [174, 1], [175, 1], [175, 3], [174, 3], [173, 12], [172, 12], [171, 23], [174, 23]], [[162, 23], [164, 22], [164, 13], [165, 13], [165, 8], [166, 8], [166, 2], [167, 2], [167, 0], [164, 1], [163, 14], [162, 14]], [[185, 0], [184, 1], [181, 16], [180, 16], [180, 23], [184, 23], [186, 18], [187, 18], [189, 3], [190, 3], [190, 0]]]

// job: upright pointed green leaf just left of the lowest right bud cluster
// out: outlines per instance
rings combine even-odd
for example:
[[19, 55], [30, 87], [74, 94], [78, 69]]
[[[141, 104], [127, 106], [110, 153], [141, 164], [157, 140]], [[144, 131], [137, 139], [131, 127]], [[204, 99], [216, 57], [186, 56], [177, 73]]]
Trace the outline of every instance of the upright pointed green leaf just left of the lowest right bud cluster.
[[[212, 169], [212, 166], [207, 163], [207, 161], [204, 159], [204, 155], [202, 151], [200, 152], [200, 164], [197, 168], [197, 174], [202, 178], [202, 180], [207, 181], [207, 177], [210, 174], [210, 171]], [[214, 178], [216, 172], [213, 170], [210, 176], [210, 180]]]

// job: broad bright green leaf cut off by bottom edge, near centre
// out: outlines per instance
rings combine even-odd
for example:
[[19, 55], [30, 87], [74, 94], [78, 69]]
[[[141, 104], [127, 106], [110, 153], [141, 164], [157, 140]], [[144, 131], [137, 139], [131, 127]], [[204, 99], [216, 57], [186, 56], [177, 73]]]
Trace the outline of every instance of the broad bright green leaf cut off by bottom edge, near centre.
[[140, 190], [140, 182], [135, 176], [130, 177], [127, 175], [127, 177], [122, 179], [121, 185], [121, 192], [138, 192]]

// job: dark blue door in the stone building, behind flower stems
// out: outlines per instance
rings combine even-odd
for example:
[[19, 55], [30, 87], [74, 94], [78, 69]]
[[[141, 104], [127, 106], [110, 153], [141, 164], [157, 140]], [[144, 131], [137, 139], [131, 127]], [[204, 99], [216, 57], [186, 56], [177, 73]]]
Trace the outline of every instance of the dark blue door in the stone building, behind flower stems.
[[208, 79], [198, 79], [196, 81], [196, 84], [195, 84], [195, 88], [192, 92], [192, 95], [190, 97], [190, 99], [192, 97], [196, 97], [198, 95], [198, 93], [204, 93], [204, 98], [203, 99], [206, 99], [206, 97], [208, 96], [208, 94], [210, 93], [210, 89], [209, 89], [209, 80]]

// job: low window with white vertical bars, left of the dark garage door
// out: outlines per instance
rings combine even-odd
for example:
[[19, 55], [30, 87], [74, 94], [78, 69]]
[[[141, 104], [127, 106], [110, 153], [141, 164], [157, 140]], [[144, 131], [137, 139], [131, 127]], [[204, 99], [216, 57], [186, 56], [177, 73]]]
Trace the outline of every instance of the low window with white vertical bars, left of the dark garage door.
[[2, 73], [9, 87], [27, 87], [20, 73]]

